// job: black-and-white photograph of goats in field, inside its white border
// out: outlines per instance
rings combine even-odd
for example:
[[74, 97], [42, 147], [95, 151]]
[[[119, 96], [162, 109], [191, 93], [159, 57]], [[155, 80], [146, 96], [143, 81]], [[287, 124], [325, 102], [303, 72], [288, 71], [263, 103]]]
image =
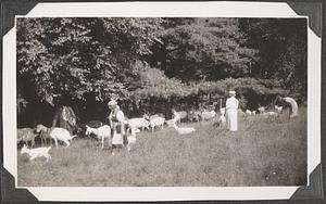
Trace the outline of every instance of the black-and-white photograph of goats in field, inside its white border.
[[308, 18], [15, 21], [18, 187], [308, 184]]

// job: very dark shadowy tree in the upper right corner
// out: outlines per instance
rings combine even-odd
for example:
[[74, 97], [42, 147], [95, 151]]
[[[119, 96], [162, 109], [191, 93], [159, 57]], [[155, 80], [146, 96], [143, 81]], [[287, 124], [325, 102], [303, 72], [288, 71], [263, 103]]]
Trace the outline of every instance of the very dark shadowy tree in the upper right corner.
[[277, 79], [289, 94], [306, 100], [308, 33], [305, 18], [241, 18], [247, 46], [258, 49], [255, 77]]

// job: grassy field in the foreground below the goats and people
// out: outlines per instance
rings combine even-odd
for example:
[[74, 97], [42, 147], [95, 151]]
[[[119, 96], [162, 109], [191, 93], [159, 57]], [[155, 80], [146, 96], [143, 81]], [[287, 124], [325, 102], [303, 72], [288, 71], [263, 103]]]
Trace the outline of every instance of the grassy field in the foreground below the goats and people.
[[111, 156], [96, 140], [52, 146], [52, 160], [18, 154], [18, 186], [243, 187], [306, 183], [306, 109], [292, 122], [239, 117], [235, 133], [208, 122], [189, 136], [172, 128], [137, 135], [130, 152]]

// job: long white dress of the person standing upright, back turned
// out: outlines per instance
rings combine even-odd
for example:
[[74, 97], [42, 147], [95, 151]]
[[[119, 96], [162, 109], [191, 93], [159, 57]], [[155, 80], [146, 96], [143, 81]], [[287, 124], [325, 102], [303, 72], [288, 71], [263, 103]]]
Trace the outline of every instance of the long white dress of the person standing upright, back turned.
[[226, 127], [230, 131], [238, 130], [238, 106], [239, 101], [235, 97], [230, 97], [226, 100]]

